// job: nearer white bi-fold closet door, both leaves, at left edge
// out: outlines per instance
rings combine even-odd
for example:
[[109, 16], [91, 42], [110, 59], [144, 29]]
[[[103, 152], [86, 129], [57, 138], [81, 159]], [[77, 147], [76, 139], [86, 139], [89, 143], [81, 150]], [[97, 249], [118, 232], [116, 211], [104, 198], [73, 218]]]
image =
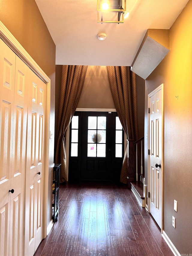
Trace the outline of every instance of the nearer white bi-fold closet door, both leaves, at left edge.
[[0, 49], [0, 255], [23, 255], [29, 68]]

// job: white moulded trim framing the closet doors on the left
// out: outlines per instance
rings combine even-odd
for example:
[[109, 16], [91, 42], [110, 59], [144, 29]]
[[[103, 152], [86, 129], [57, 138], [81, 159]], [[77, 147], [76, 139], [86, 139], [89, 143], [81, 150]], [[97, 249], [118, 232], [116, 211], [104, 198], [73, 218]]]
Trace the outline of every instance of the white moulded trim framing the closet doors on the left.
[[0, 21], [0, 38], [15, 52], [34, 73], [46, 83], [46, 116], [45, 116], [45, 150], [44, 150], [44, 196], [43, 196], [43, 238], [47, 236], [47, 206], [48, 206], [48, 179], [49, 179], [49, 120], [50, 120], [50, 78], [19, 44], [16, 38]]

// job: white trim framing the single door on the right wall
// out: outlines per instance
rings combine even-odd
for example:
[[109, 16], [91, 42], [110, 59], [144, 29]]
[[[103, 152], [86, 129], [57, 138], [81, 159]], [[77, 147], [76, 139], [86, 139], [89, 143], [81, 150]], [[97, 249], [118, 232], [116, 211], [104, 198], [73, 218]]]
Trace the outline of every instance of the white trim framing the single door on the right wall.
[[[159, 90], [161, 90], [162, 92], [162, 161], [161, 161], [161, 233], [163, 232], [163, 158], [164, 158], [164, 149], [163, 149], [163, 138], [164, 138], [164, 84], [162, 83], [160, 86], [158, 86], [154, 91], [152, 91], [150, 94], [148, 94], [148, 108], [150, 108], [150, 98], [156, 93], [158, 92]], [[149, 145], [149, 136], [150, 136], [150, 132], [149, 132], [149, 122], [150, 122], [150, 116], [149, 116], [149, 113], [148, 113], [148, 149], [150, 149], [150, 145]], [[148, 154], [148, 192], [150, 191], [150, 158], [149, 158], [149, 154]], [[150, 212], [150, 202], [149, 202], [149, 197], [148, 197], [148, 212]]]

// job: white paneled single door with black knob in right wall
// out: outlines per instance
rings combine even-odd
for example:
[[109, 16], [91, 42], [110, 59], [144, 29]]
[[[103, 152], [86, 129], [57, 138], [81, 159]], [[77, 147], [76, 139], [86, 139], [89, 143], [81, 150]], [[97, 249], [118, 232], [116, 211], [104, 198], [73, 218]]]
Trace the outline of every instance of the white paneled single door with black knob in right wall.
[[149, 103], [149, 211], [162, 225], [162, 85], [148, 97]]

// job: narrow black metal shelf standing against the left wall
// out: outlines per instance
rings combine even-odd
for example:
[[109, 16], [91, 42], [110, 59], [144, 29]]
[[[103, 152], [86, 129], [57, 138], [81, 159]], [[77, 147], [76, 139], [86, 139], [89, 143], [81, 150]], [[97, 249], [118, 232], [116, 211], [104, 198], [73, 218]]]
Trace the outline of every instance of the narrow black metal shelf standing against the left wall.
[[59, 176], [60, 176], [60, 167], [61, 164], [55, 164], [53, 167], [53, 184], [55, 184], [54, 190], [52, 194], [54, 194], [54, 202], [52, 203], [52, 207], [54, 207], [54, 213], [52, 215], [52, 220], [55, 223], [58, 219], [59, 213]]

